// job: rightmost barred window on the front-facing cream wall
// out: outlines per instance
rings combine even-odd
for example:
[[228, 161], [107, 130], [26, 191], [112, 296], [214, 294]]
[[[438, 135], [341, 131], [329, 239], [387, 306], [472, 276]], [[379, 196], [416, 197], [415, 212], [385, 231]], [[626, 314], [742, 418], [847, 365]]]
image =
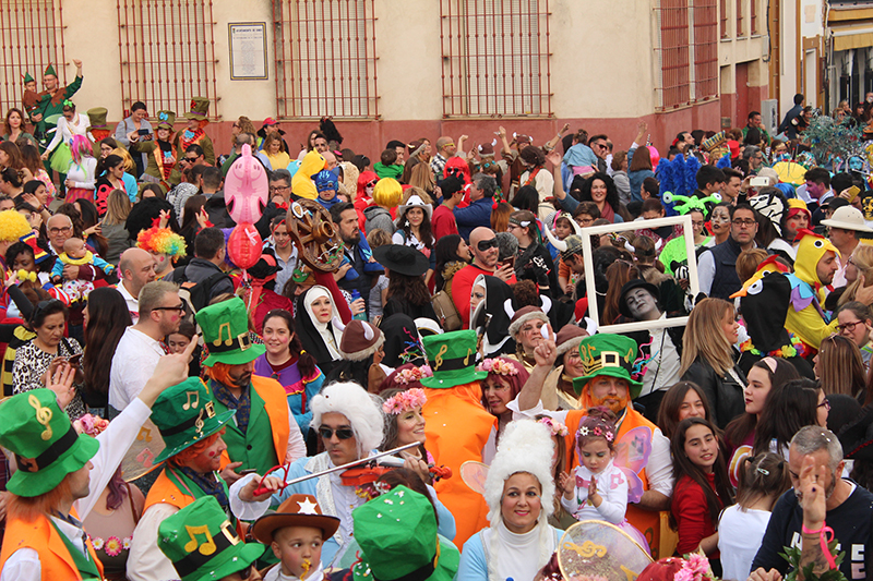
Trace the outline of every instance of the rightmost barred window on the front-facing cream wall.
[[443, 117], [549, 116], [549, 1], [441, 0]]

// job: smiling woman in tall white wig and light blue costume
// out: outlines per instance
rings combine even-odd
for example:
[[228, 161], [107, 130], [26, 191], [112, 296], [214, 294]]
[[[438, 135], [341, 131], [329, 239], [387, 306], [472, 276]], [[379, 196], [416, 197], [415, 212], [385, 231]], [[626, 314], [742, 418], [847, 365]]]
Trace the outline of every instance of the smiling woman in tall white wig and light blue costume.
[[553, 453], [545, 425], [518, 420], [506, 426], [485, 483], [491, 525], [464, 544], [457, 579], [539, 578], [562, 534], [548, 523], [554, 510]]

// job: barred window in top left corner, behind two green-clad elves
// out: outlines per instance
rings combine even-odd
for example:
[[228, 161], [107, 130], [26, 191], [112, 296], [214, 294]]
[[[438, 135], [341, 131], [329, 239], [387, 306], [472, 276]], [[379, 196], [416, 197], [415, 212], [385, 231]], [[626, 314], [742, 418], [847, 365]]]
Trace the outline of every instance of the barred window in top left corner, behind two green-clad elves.
[[43, 89], [43, 71], [55, 65], [67, 83], [61, 0], [0, 0], [0, 110], [21, 109], [24, 73]]

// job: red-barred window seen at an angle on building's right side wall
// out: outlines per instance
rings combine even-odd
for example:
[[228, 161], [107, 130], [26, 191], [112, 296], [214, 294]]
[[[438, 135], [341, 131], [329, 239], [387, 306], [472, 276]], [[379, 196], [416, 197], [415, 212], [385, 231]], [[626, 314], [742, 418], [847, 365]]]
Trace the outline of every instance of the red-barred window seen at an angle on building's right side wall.
[[716, 0], [660, 0], [657, 107], [663, 111], [718, 95]]

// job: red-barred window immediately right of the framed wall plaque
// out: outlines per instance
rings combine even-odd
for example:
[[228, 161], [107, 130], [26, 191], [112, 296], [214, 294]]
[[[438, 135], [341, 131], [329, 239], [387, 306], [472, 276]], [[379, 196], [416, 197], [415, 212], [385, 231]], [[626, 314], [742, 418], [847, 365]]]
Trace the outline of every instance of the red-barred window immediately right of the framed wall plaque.
[[379, 117], [373, 10], [373, 0], [273, 0], [278, 117]]

